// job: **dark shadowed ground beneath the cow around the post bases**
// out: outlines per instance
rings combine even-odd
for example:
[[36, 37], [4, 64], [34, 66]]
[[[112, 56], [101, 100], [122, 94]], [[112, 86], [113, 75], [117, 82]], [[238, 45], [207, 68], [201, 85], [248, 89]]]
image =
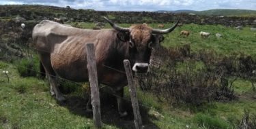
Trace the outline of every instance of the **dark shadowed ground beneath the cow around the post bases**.
[[[76, 115], [81, 115], [82, 117], [87, 117], [89, 119], [93, 118], [91, 111], [87, 111], [87, 100], [88, 98], [82, 98], [81, 96], [66, 95], [66, 103], [59, 103], [59, 105], [66, 107], [71, 113]], [[119, 117], [117, 111], [117, 102], [115, 96], [111, 94], [101, 93], [100, 94], [100, 108], [102, 122], [108, 125], [114, 125], [118, 128], [133, 129], [134, 127], [134, 116], [132, 111], [132, 104], [128, 100], [124, 100], [124, 107], [128, 115], [126, 117]], [[145, 107], [140, 107], [141, 118], [143, 125], [147, 128], [158, 129], [158, 127], [151, 122], [150, 119], [154, 119], [153, 116], [148, 115], [148, 110]]]

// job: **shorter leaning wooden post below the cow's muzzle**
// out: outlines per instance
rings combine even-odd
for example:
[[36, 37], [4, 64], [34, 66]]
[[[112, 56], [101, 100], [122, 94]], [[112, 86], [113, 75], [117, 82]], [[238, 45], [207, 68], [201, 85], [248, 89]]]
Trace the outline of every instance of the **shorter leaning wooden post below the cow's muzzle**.
[[134, 114], [134, 124], [136, 129], [142, 129], [141, 114], [139, 113], [139, 103], [137, 99], [136, 87], [132, 77], [132, 69], [130, 69], [130, 61], [124, 60], [124, 68], [126, 69], [126, 76], [129, 85], [130, 98], [132, 100], [132, 109]]

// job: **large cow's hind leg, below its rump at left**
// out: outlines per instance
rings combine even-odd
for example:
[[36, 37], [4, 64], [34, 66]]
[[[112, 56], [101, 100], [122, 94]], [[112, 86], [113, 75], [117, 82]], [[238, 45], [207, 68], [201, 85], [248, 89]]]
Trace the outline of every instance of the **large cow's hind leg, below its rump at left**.
[[50, 93], [51, 95], [55, 95], [56, 99], [59, 101], [65, 101], [63, 94], [60, 92], [59, 88], [57, 87], [57, 79], [56, 74], [53, 71], [53, 67], [51, 66], [51, 59], [49, 54], [40, 54], [40, 59], [44, 69], [46, 71], [47, 79], [50, 84]]

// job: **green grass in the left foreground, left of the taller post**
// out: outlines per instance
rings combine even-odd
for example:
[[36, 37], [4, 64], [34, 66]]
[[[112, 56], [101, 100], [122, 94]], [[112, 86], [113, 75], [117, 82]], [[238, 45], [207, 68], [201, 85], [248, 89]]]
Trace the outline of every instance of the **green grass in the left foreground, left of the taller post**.
[[[12, 64], [0, 62], [0, 127], [2, 128], [93, 128], [91, 118], [71, 113], [48, 93], [48, 83], [35, 77], [20, 77]], [[105, 125], [104, 128], [115, 128]]]

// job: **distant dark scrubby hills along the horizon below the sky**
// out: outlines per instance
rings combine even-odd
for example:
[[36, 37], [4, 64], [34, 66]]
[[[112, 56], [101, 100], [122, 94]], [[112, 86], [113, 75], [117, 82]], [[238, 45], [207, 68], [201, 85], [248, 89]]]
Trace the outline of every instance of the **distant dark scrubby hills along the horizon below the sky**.
[[[217, 14], [217, 12], [219, 13]], [[233, 16], [225, 16], [231, 15], [232, 12], [234, 12]], [[197, 14], [197, 16], [195, 14]], [[230, 10], [208, 10], [203, 12], [193, 10], [176, 10], [175, 12], [165, 12], [164, 10], [159, 12], [106, 12], [82, 9], [75, 10], [70, 7], [46, 5], [0, 5], [0, 21], [3, 22], [5, 22], [5, 20], [15, 20], [18, 17], [25, 18], [27, 21], [61, 18], [64, 22], [104, 22], [102, 16], [107, 16], [117, 23], [167, 23], [175, 22], [177, 19], [180, 19], [180, 22], [184, 24], [223, 24], [225, 26], [256, 25], [256, 22], [254, 22], [256, 11], [253, 10], [247, 13], [243, 10], [240, 10], [240, 13]]]

